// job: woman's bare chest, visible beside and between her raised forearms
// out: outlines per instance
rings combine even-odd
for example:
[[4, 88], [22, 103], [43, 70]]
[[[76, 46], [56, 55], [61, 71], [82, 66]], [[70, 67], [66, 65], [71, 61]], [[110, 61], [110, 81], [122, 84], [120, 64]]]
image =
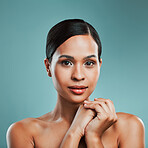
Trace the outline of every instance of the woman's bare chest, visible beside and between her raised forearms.
[[[67, 128], [61, 126], [43, 129], [34, 139], [35, 148], [59, 148], [67, 130]], [[114, 129], [109, 128], [102, 136], [102, 143], [107, 148], [118, 148], [117, 139]], [[87, 148], [85, 137], [81, 138], [79, 148]]]

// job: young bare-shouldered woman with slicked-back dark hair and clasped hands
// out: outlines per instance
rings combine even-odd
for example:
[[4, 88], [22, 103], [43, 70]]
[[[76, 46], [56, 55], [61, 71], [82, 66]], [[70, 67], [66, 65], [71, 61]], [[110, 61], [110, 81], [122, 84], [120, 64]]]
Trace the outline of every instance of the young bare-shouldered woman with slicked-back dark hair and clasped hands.
[[110, 99], [90, 101], [102, 59], [99, 36], [89, 23], [69, 19], [52, 27], [46, 56], [46, 71], [57, 90], [56, 106], [39, 118], [12, 124], [9, 148], [144, 148], [140, 118], [116, 113]]

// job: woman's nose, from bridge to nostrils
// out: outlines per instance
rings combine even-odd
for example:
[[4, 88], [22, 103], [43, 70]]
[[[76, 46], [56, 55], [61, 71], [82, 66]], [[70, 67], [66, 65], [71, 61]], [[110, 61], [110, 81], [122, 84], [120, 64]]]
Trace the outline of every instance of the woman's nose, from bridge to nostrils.
[[74, 81], [85, 80], [85, 75], [81, 65], [75, 65], [72, 71], [71, 79]]

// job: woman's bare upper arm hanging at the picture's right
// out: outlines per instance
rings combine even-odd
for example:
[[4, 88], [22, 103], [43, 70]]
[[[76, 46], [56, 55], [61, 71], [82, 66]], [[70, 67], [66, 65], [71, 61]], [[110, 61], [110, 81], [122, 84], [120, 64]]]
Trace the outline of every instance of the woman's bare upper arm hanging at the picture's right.
[[145, 148], [145, 128], [135, 115], [125, 114], [120, 122], [119, 147]]

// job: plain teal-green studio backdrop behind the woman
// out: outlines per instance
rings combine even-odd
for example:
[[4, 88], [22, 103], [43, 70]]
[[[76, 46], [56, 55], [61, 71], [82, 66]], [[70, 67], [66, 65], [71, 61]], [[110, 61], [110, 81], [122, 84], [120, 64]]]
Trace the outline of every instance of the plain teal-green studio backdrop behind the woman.
[[56, 91], [43, 62], [46, 36], [68, 18], [91, 23], [102, 41], [91, 99], [110, 98], [117, 112], [139, 116], [148, 139], [147, 15], [146, 0], [0, 0], [0, 148], [10, 124], [54, 108]]

